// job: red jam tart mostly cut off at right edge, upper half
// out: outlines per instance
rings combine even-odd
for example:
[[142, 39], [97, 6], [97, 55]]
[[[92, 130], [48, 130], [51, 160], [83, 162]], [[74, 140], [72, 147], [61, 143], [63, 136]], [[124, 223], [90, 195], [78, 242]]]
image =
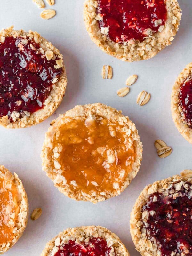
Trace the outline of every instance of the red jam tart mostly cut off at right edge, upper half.
[[173, 86], [171, 110], [178, 131], [192, 143], [192, 62], [183, 69]]

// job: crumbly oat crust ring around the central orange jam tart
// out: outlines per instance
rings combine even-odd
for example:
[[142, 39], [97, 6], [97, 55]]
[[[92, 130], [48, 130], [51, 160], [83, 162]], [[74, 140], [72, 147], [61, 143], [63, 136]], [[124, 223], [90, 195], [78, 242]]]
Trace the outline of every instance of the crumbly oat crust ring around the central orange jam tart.
[[[132, 171], [125, 178], [123, 185], [114, 190], [113, 192], [106, 192], [105, 194], [96, 194], [90, 193], [85, 194], [83, 191], [79, 191], [78, 193], [74, 193], [74, 190], [70, 188], [69, 185], [66, 184], [66, 180], [63, 180], [63, 176], [58, 171], [52, 170], [52, 141], [54, 139], [54, 134], [56, 134], [58, 125], [60, 121], [62, 123], [68, 122], [70, 118], [79, 118], [79, 117], [88, 117], [90, 115], [99, 115], [101, 117], [105, 117], [112, 122], [118, 122], [119, 124], [124, 125], [128, 129], [130, 129], [131, 135], [127, 135], [127, 138], [131, 139], [131, 143], [135, 148], [135, 160], [132, 163]], [[45, 134], [45, 140], [42, 148], [42, 165], [43, 170], [46, 172], [47, 176], [51, 178], [54, 182], [54, 185], [60, 190], [64, 195], [73, 198], [75, 200], [84, 200], [91, 201], [93, 203], [97, 203], [103, 200], [106, 200], [110, 197], [119, 195], [124, 189], [130, 184], [132, 179], [136, 176], [139, 171], [141, 160], [142, 160], [142, 142], [140, 141], [140, 137], [138, 135], [138, 131], [136, 130], [135, 124], [129, 120], [129, 118], [121, 114], [121, 112], [117, 111], [115, 108], [111, 108], [101, 103], [88, 104], [84, 106], [75, 106], [73, 109], [68, 110], [65, 114], [60, 115], [56, 120], [54, 120], [51, 124], [52, 126], [48, 129]], [[64, 182], [65, 181], [65, 182]]]

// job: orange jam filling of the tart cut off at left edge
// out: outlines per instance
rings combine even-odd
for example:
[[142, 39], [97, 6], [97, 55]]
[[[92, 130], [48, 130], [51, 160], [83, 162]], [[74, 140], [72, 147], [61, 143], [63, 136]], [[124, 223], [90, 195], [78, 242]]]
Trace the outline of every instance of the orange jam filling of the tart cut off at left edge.
[[17, 196], [16, 185], [0, 179], [0, 244], [13, 239], [13, 226], [19, 211]]

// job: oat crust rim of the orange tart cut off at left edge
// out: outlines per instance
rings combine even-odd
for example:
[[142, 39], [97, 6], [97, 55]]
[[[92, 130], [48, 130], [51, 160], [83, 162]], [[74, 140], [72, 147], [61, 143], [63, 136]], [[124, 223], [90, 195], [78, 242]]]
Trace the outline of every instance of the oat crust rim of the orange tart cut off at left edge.
[[[5, 173], [9, 172], [3, 165], [0, 165], [0, 178], [4, 179]], [[19, 179], [18, 175], [14, 173], [14, 183], [17, 185], [18, 188], [18, 207], [19, 213], [16, 221], [14, 222], [14, 237], [12, 242], [0, 244], [0, 254], [9, 250], [22, 236], [28, 221], [28, 198], [23, 187], [21, 180]]]

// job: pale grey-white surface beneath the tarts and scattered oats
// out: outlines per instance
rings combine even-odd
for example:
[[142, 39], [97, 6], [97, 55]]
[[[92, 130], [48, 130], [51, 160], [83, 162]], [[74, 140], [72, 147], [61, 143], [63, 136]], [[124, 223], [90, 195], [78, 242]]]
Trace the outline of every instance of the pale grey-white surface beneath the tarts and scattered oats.
[[[192, 61], [192, 1], [179, 0], [183, 11], [177, 36], [171, 46], [150, 60], [124, 63], [103, 53], [89, 38], [83, 21], [84, 0], [56, 0], [57, 15], [42, 20], [41, 9], [32, 0], [0, 0], [0, 28], [36, 30], [64, 55], [68, 85], [66, 95], [50, 118], [31, 128], [6, 130], [0, 127], [0, 164], [17, 172], [28, 194], [29, 215], [36, 207], [42, 216], [28, 220], [27, 228], [6, 256], [40, 256], [46, 242], [64, 228], [102, 225], [115, 232], [128, 248], [135, 251], [129, 232], [130, 212], [141, 190], [156, 180], [192, 168], [192, 146], [177, 131], [171, 116], [172, 86], [181, 70]], [[47, 4], [48, 7], [48, 4]], [[49, 7], [48, 7], [49, 8]], [[113, 67], [112, 80], [103, 80], [103, 65]], [[138, 81], [129, 94], [119, 98], [116, 91], [125, 86], [129, 75]], [[137, 95], [146, 90], [150, 102], [140, 107]], [[49, 123], [76, 104], [102, 102], [121, 109], [136, 124], [143, 142], [143, 162], [131, 185], [120, 195], [98, 204], [76, 202], [62, 195], [42, 172], [41, 147]], [[154, 141], [164, 140], [172, 154], [160, 159]]]

